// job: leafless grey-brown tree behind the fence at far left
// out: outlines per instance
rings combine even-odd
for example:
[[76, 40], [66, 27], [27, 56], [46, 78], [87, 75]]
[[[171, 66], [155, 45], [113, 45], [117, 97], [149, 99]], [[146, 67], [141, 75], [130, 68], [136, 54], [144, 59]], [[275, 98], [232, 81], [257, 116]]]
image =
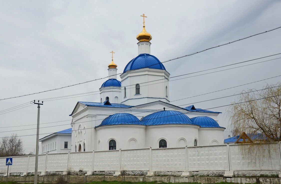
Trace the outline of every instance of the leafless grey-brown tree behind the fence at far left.
[[23, 154], [23, 141], [17, 134], [3, 137], [0, 141], [0, 156], [19, 156]]

